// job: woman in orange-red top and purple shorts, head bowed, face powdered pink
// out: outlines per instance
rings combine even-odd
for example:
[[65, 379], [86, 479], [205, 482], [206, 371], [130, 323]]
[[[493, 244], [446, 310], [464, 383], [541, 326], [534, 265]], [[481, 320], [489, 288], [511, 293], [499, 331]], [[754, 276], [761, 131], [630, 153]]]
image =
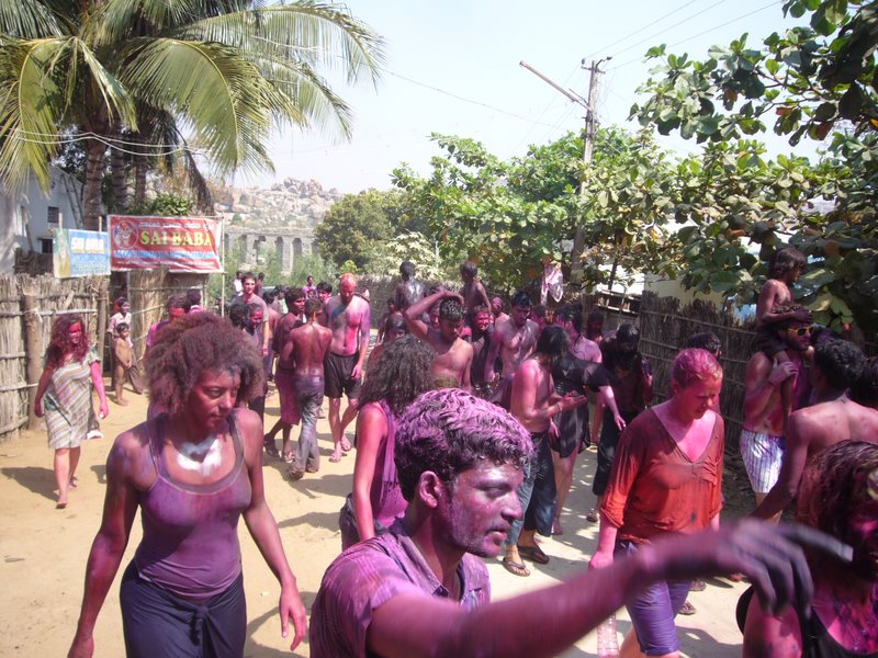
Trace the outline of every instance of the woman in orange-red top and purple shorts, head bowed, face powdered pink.
[[[600, 508], [598, 547], [592, 567], [612, 564], [668, 533], [719, 525], [723, 422], [712, 408], [722, 367], [709, 352], [683, 350], [674, 360], [672, 397], [646, 409], [624, 430]], [[627, 605], [634, 633], [621, 656], [679, 655], [674, 617], [689, 582], [662, 581]]]

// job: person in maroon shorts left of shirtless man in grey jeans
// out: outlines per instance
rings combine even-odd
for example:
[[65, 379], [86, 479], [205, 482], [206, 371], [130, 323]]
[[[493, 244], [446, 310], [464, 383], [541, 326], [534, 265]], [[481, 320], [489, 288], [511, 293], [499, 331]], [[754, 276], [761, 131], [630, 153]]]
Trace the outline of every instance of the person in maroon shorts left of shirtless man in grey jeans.
[[[293, 329], [301, 326], [305, 321], [305, 293], [301, 288], [290, 287], [283, 295], [283, 300], [286, 303], [286, 315], [284, 315], [275, 326], [277, 333], [272, 340], [272, 349], [278, 354], [278, 363], [274, 368], [274, 386], [278, 388], [278, 398], [280, 399], [281, 417], [274, 427], [266, 434], [263, 442], [266, 454], [272, 457], [282, 456], [288, 463], [292, 463], [294, 454], [291, 447], [290, 433], [294, 424], [299, 424], [301, 415], [299, 411], [299, 404], [296, 402], [295, 385], [293, 383], [294, 363], [290, 359], [284, 359], [283, 353], [286, 343], [290, 341], [290, 333]], [[274, 436], [278, 432], [282, 431], [283, 445], [281, 453], [278, 453], [278, 446], [274, 443]]]

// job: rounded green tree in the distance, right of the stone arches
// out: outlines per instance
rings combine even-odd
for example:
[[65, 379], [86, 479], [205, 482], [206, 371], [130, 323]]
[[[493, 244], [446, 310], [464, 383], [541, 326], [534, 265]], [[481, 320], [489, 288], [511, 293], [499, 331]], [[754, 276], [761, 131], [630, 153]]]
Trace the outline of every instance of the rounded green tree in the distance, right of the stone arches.
[[350, 261], [363, 271], [373, 246], [393, 236], [399, 216], [398, 196], [369, 190], [339, 198], [314, 229], [320, 253], [339, 268]]

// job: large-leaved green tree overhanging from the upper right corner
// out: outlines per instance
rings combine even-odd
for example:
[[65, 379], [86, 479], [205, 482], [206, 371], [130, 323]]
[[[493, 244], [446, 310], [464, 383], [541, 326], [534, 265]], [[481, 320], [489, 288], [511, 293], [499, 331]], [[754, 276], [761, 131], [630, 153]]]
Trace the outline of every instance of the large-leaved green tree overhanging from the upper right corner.
[[[635, 104], [632, 115], [662, 134], [678, 131], [685, 138], [714, 145], [768, 129], [795, 145], [804, 137], [823, 139], [838, 131], [815, 167], [808, 168], [796, 158], [776, 162], [787, 170], [779, 171], [779, 181], [788, 190], [830, 198], [834, 212], [825, 216], [809, 212], [798, 193], [785, 200], [774, 185], [768, 197], [777, 198], [773, 209], [779, 213], [740, 227], [721, 226], [719, 232], [740, 230], [732, 248], [740, 252], [739, 242], [755, 241], [762, 246], [763, 260], [775, 246], [796, 245], [811, 260], [810, 273], [800, 281], [802, 299], [818, 319], [837, 327], [854, 318], [871, 333], [878, 328], [874, 228], [878, 10], [874, 2], [787, 0], [784, 11], [796, 18], [809, 14], [809, 24], [772, 34], [758, 48], [747, 46], [746, 35], [728, 47], [711, 48], [703, 60], [666, 54], [664, 46], [651, 48], [648, 55], [660, 59], [661, 66], [643, 86], [646, 101]], [[679, 213], [686, 212], [684, 204]], [[785, 220], [778, 220], [779, 215]], [[690, 238], [691, 251], [716, 250], [716, 242], [699, 239], [703, 235], [685, 236]], [[764, 266], [747, 271], [756, 274], [753, 287], [758, 287]], [[691, 281], [713, 276], [709, 269], [702, 274]], [[733, 294], [731, 274], [725, 274], [725, 285], [727, 294]]]

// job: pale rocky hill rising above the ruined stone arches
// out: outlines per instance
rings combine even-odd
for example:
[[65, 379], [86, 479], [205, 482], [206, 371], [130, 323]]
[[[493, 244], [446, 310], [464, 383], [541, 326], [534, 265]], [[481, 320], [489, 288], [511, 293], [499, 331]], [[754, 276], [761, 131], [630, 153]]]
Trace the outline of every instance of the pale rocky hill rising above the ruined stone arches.
[[285, 179], [270, 189], [218, 188], [213, 190], [214, 211], [230, 226], [246, 228], [312, 229], [326, 211], [344, 196], [317, 181]]

